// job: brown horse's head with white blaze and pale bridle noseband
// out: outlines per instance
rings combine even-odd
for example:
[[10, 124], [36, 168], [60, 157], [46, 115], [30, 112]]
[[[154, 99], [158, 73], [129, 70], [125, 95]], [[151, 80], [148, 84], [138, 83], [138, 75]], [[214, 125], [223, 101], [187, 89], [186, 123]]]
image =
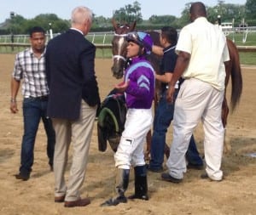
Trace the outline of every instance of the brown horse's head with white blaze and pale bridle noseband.
[[134, 31], [136, 21], [132, 25], [118, 25], [115, 20], [112, 20], [114, 36], [112, 40], [112, 54], [113, 54], [113, 66], [111, 68], [113, 76], [121, 78], [124, 74], [126, 65], [126, 42], [125, 37], [128, 32]]

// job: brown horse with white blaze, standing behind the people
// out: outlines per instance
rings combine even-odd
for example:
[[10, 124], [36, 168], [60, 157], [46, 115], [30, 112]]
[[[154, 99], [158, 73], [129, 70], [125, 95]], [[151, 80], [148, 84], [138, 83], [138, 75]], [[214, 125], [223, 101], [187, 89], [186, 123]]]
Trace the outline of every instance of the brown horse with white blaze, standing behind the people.
[[[113, 54], [113, 66], [111, 68], [113, 76], [117, 79], [123, 77], [123, 73], [125, 71], [125, 66], [127, 63], [126, 59], [126, 47], [128, 42], [125, 41], [125, 36], [127, 33], [131, 31], [135, 31], [136, 21], [134, 21], [131, 25], [127, 23], [125, 25], [118, 25], [115, 20], [112, 20], [114, 36], [112, 40], [112, 54]], [[154, 45], [160, 45], [160, 33], [157, 31], [147, 31], [147, 33], [152, 37], [154, 41]], [[238, 49], [236, 48], [236, 44], [232, 42], [230, 39], [227, 39], [227, 45], [229, 48], [230, 61], [225, 68], [226, 77], [225, 77], [225, 91], [224, 91], [224, 101], [222, 105], [222, 122], [224, 128], [227, 126], [227, 119], [229, 113], [233, 113], [239, 104], [242, 92], [242, 76], [241, 76], [241, 66]], [[150, 54], [148, 60], [154, 67], [154, 71], [159, 73], [160, 71], [160, 56], [156, 54]], [[231, 77], [231, 95], [230, 95], [230, 106], [228, 105], [228, 101], [226, 99], [226, 87], [230, 82]], [[155, 85], [155, 96], [154, 96], [154, 110], [156, 110], [157, 103], [160, 95], [160, 82], [156, 82]], [[226, 129], [225, 129], [226, 131]], [[225, 132], [226, 133], [226, 132]], [[147, 135], [147, 150], [145, 156], [148, 157], [150, 151], [151, 144], [151, 132], [149, 131]], [[224, 150], [226, 152], [230, 151], [230, 143], [229, 141], [224, 141]], [[169, 149], [166, 145], [165, 150], [166, 157], [168, 157]]]

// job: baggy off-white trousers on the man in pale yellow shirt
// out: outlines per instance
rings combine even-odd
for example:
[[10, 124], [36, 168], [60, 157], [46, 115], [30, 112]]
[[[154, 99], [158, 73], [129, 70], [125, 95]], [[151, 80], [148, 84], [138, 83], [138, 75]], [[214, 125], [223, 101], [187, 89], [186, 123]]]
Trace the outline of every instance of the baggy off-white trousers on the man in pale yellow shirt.
[[204, 150], [207, 174], [221, 180], [220, 170], [224, 148], [224, 127], [221, 109], [224, 91], [218, 91], [207, 82], [195, 78], [185, 80], [177, 95], [173, 118], [172, 148], [166, 165], [174, 178], [183, 178], [186, 172], [185, 153], [190, 137], [201, 121], [205, 133]]

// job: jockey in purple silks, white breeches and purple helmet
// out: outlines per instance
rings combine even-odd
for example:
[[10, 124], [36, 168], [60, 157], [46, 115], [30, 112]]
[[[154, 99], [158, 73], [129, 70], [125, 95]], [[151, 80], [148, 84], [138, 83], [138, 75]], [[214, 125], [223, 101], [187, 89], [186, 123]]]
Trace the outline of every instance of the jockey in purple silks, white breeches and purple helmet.
[[114, 155], [117, 167], [115, 196], [102, 206], [116, 206], [127, 202], [125, 190], [129, 184], [131, 166], [135, 172], [135, 193], [130, 199], [148, 200], [147, 172], [144, 161], [143, 144], [153, 122], [152, 102], [154, 99], [154, 69], [146, 59], [153, 46], [151, 37], [144, 32], [128, 33], [127, 55], [131, 65], [125, 70], [124, 82], [115, 86], [125, 93], [127, 114], [125, 130]]

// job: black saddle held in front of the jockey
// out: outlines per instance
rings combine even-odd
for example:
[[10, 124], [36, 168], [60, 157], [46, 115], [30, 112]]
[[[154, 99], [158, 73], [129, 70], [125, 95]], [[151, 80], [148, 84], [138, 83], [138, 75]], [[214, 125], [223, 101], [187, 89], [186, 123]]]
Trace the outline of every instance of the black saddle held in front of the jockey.
[[111, 149], [116, 152], [125, 129], [126, 112], [124, 93], [117, 93], [113, 89], [102, 101], [97, 114], [98, 150], [107, 150], [108, 141]]

